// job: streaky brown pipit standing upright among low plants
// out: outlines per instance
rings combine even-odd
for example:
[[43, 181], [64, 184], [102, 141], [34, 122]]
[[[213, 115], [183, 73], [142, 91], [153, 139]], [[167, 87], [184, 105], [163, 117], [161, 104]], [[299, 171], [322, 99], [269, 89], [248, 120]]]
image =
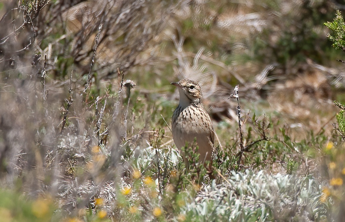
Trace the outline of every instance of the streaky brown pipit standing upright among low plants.
[[[172, 138], [176, 147], [181, 149], [186, 143], [192, 145], [196, 138], [199, 161], [212, 161], [215, 134], [210, 116], [203, 105], [199, 84], [187, 79], [171, 84], [178, 88], [180, 94], [180, 103], [171, 118]], [[184, 159], [186, 161], [186, 157]]]

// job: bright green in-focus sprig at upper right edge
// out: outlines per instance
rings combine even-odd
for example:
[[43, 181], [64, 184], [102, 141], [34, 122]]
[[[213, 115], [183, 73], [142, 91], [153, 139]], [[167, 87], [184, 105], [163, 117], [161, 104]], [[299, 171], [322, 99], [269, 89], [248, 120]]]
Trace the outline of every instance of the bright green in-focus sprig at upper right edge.
[[336, 49], [345, 49], [345, 23], [340, 11], [337, 10], [336, 17], [333, 22], [324, 23], [331, 29], [331, 33], [327, 37], [333, 42], [332, 46]]

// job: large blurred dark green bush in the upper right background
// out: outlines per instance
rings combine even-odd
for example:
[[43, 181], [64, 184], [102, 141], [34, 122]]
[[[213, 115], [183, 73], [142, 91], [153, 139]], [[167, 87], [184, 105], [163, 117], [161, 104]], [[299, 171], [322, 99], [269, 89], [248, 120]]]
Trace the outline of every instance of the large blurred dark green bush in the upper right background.
[[255, 59], [265, 63], [274, 61], [279, 65], [304, 62], [307, 58], [324, 63], [329, 58], [325, 56], [326, 52], [334, 54], [334, 51], [326, 50], [327, 41], [318, 32], [333, 10], [329, 2], [304, 1], [294, 7], [294, 10], [287, 11], [278, 8], [280, 16], [272, 25], [253, 35]]

